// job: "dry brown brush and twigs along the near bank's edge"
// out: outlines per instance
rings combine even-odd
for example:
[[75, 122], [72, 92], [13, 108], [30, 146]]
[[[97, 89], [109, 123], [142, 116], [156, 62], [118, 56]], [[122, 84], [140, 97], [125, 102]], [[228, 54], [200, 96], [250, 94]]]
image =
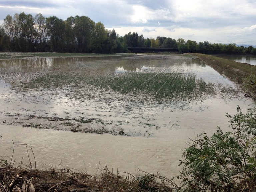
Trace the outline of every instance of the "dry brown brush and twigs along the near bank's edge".
[[178, 187], [171, 180], [158, 174], [152, 175], [144, 172], [143, 176], [137, 178], [128, 173], [126, 174], [126, 177], [115, 175], [107, 167], [104, 171], [101, 171], [101, 174], [92, 176], [66, 169], [41, 171], [1, 165], [0, 191], [171, 192]]

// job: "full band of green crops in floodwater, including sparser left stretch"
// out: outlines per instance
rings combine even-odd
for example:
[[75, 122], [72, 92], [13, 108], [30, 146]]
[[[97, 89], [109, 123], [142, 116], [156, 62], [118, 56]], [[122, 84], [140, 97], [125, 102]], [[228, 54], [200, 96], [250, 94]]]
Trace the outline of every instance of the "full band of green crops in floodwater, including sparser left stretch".
[[[82, 76], [53, 74], [24, 83], [24, 89], [51, 89], [74, 87], [72, 98], [82, 98], [80, 92], [86, 86], [94, 86], [121, 94], [145, 95], [157, 101], [194, 99], [215, 94], [213, 84], [197, 79], [193, 73], [127, 73], [113, 76]], [[67, 93], [68, 94], [68, 93]]]

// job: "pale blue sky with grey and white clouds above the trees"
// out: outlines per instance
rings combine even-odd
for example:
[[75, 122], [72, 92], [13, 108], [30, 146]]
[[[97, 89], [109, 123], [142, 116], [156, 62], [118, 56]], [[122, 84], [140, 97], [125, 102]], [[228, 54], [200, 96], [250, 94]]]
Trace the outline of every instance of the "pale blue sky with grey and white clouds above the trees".
[[256, 47], [256, 0], [0, 0], [0, 24], [9, 14], [87, 16], [115, 29], [185, 41]]

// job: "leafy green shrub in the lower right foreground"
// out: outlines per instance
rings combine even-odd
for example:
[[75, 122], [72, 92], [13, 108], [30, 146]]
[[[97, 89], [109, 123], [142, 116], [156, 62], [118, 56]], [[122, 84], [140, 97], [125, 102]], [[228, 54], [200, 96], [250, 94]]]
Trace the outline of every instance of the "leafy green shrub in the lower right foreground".
[[181, 179], [184, 191], [255, 191], [255, 108], [230, 118], [232, 131], [217, 127], [211, 137], [200, 134], [183, 152]]

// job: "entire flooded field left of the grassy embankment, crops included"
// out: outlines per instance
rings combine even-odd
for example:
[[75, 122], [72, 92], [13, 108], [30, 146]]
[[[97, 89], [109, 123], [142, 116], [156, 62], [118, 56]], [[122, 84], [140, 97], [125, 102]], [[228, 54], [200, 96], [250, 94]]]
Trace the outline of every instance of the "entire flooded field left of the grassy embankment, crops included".
[[251, 103], [192, 55], [0, 60], [0, 79], [1, 154], [27, 143], [38, 168], [89, 173], [176, 176], [189, 137], [228, 130], [225, 113]]

